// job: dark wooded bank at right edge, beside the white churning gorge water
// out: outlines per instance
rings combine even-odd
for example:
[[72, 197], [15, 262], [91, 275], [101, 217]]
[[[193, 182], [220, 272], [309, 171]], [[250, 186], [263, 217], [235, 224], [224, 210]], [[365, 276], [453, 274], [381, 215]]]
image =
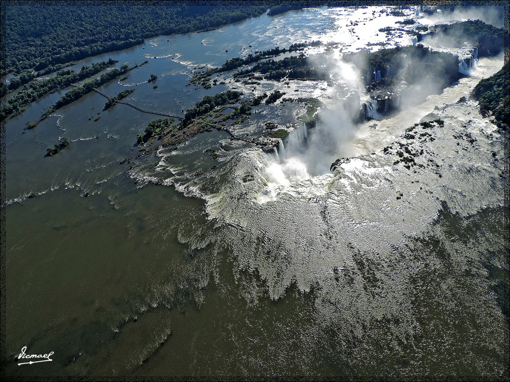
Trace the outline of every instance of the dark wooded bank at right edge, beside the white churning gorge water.
[[510, 126], [510, 80], [508, 80], [507, 63], [489, 78], [482, 79], [474, 88], [473, 96], [478, 99], [480, 112], [483, 115], [494, 115], [496, 121]]

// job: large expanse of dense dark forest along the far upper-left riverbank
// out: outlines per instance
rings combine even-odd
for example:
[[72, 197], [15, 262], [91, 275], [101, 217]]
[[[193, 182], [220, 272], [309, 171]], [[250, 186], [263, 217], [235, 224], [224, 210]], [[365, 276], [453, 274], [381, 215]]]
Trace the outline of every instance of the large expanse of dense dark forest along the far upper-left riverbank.
[[[104, 3], [102, 3], [104, 4]], [[257, 6], [6, 6], [3, 68], [42, 70], [124, 49], [143, 38], [208, 30], [263, 14]]]

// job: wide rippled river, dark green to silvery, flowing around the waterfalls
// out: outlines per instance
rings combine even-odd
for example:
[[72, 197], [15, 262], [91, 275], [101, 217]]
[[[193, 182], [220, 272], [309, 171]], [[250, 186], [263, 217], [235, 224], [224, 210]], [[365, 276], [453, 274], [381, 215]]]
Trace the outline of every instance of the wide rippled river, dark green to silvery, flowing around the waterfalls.
[[[388, 11], [263, 15], [147, 39], [73, 68], [148, 60], [101, 90], [132, 88], [130, 102], [181, 115], [235, 85], [187, 86], [195, 67], [312, 40], [343, 51], [412, 44], [406, 33], [379, 29], [415, 10]], [[261, 105], [239, 127], [294, 124], [276, 160], [216, 130], [139, 157], [136, 134], [163, 117], [122, 104], [103, 111], [106, 99], [92, 92], [27, 130], [69, 89], [34, 102], [6, 126], [3, 367], [13, 375], [503, 375], [503, 139], [476, 102], [456, 103], [501, 66], [481, 59], [471, 76], [412, 111], [336, 134], [331, 158], [307, 153], [313, 171], [293, 156], [296, 137], [309, 133], [293, 104]], [[326, 121], [342, 117], [333, 90], [289, 87], [324, 101], [316, 134], [328, 134]], [[381, 150], [427, 115], [445, 127], [415, 145], [437, 167], [394, 166]], [[44, 157], [59, 137], [70, 145]], [[342, 156], [356, 158], [331, 173]], [[18, 366], [24, 346], [54, 351], [53, 361]]]

